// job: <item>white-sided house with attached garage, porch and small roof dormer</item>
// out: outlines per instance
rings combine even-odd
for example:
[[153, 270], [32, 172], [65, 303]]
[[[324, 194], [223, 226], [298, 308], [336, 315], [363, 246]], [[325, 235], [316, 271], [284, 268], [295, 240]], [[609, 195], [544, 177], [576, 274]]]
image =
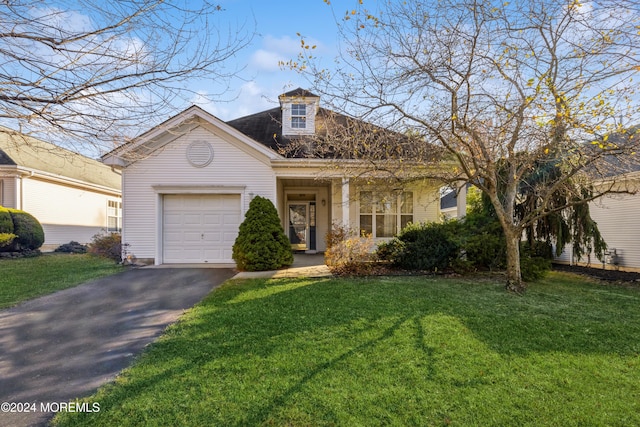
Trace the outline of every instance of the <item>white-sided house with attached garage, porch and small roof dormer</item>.
[[437, 183], [393, 191], [332, 159], [283, 151], [335, 114], [319, 103], [296, 89], [280, 107], [226, 123], [193, 106], [103, 156], [122, 168], [126, 253], [142, 263], [233, 265], [238, 227], [257, 195], [276, 206], [292, 248], [306, 252], [326, 249], [333, 223], [380, 240], [408, 222], [440, 219]]

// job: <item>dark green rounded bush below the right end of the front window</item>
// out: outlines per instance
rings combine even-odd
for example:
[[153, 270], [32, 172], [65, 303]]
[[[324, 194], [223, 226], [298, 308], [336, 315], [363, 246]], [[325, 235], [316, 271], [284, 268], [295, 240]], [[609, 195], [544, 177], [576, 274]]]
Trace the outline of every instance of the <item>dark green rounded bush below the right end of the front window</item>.
[[407, 270], [446, 270], [460, 255], [459, 230], [457, 221], [409, 224], [377, 254]]

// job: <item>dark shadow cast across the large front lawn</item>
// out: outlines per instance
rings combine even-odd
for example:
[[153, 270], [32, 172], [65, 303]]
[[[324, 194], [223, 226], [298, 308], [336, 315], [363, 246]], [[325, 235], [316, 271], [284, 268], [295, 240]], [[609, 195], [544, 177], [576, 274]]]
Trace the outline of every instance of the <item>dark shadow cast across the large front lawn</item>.
[[[118, 394], [112, 394], [109, 400], [119, 406], [127, 396], [141, 390], [163, 389], [161, 384], [165, 381], [171, 387], [176, 378], [206, 381], [197, 373], [211, 372], [205, 366], [212, 361], [226, 364], [226, 374], [238, 375], [242, 378], [238, 381], [253, 380], [242, 377], [245, 372], [233, 361], [264, 361], [288, 352], [300, 354], [305, 340], [314, 345], [317, 340], [322, 345], [319, 334], [354, 331], [358, 340], [352, 345], [317, 353], [324, 359], [309, 360], [297, 376], [290, 376], [286, 385], [263, 391], [265, 395], [257, 399], [263, 404], [238, 420], [241, 424], [259, 425], [268, 422], [275, 410], [314, 379], [356, 355], [389, 345], [401, 328], [411, 328], [414, 350], [425, 361], [423, 375], [434, 377], [437, 348], [425, 336], [432, 332], [427, 318], [438, 316], [456, 319], [451, 328], [460, 325], [468, 329], [484, 347], [503, 356], [547, 352], [628, 356], [640, 351], [640, 314], [634, 308], [640, 299], [637, 293], [623, 293], [616, 298], [596, 292], [587, 303], [572, 301], [572, 295], [544, 287], [539, 292], [530, 290], [525, 297], [515, 297], [505, 293], [501, 284], [425, 278], [405, 278], [399, 283], [398, 279], [376, 279], [373, 286], [371, 279], [292, 279], [225, 285], [200, 304], [197, 316], [188, 316], [178, 328], [169, 331], [166, 339], [152, 346], [147, 354], [151, 358], [149, 364], [166, 366], [165, 370], [150, 376], [135, 375], [133, 382], [115, 389]], [[437, 326], [445, 328], [446, 333], [447, 325]], [[308, 350], [313, 354], [313, 348]], [[214, 372], [225, 374], [222, 370]], [[144, 408], [139, 408], [127, 417], [145, 417], [144, 414]]]

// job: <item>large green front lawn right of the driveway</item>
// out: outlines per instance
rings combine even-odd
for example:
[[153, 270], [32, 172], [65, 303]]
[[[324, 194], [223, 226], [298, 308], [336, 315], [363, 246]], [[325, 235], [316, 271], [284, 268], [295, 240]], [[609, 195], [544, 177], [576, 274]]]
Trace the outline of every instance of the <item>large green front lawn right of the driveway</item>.
[[640, 425], [640, 290], [232, 281], [61, 426]]

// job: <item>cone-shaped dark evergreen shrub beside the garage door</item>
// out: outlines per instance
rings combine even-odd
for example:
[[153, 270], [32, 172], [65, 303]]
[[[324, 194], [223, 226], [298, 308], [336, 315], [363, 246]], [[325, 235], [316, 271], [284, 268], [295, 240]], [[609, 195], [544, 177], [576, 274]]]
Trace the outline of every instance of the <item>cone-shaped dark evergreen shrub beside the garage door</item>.
[[251, 200], [232, 256], [242, 271], [276, 270], [293, 264], [291, 243], [269, 199], [256, 196]]

